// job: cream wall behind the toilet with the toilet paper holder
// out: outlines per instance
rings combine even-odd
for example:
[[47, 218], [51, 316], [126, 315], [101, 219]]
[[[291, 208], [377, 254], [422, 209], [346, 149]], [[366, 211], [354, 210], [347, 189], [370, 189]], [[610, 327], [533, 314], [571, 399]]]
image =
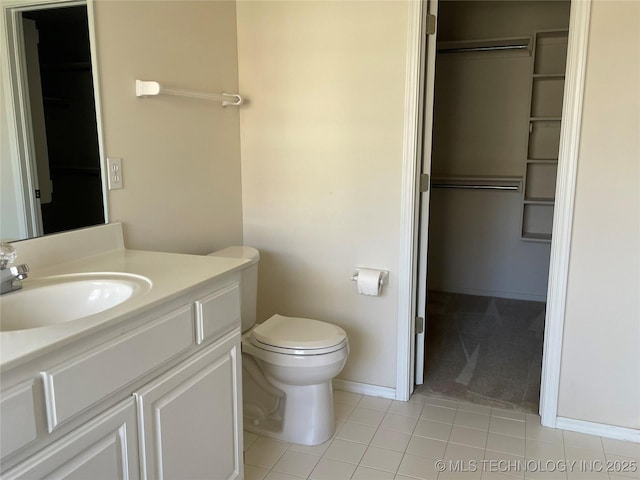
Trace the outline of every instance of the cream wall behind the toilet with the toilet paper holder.
[[[245, 244], [259, 248], [258, 318], [345, 328], [345, 380], [396, 384], [407, 3], [241, 1]], [[384, 268], [382, 297], [355, 267]]]

